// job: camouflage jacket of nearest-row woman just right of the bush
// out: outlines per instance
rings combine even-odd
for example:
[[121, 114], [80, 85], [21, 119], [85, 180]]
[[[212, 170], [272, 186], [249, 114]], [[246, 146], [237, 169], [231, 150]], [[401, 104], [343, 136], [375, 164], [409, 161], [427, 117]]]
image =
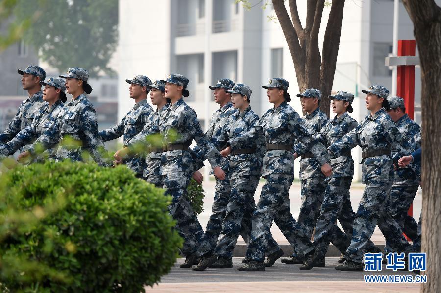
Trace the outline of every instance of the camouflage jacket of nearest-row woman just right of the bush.
[[[216, 149], [211, 140], [202, 132], [196, 112], [190, 108], [181, 98], [174, 104], [169, 104], [164, 113], [161, 114], [159, 121], [154, 123], [145, 135], [161, 133], [163, 144], [179, 144], [190, 146], [192, 140], [195, 140], [201, 150], [206, 153], [212, 167], [224, 166], [226, 161]], [[133, 148], [136, 141], [132, 139], [127, 147]], [[175, 172], [194, 171], [194, 153], [187, 150], [172, 150], [162, 153], [162, 174]]]

